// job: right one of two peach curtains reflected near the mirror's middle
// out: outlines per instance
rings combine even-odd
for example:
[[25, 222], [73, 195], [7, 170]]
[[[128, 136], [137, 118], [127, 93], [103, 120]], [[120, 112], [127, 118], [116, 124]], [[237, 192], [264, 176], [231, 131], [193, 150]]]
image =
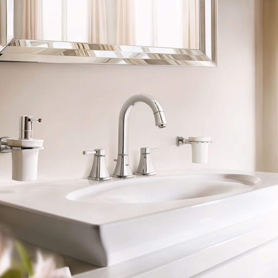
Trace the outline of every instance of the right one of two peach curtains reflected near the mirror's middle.
[[135, 43], [135, 1], [117, 0], [117, 44]]

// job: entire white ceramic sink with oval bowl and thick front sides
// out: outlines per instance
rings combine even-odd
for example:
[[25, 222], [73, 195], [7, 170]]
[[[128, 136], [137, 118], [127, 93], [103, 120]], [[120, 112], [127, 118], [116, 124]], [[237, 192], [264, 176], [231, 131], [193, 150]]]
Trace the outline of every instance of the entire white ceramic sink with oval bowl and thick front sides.
[[207, 172], [1, 187], [0, 219], [19, 238], [108, 266], [278, 209], [278, 174]]

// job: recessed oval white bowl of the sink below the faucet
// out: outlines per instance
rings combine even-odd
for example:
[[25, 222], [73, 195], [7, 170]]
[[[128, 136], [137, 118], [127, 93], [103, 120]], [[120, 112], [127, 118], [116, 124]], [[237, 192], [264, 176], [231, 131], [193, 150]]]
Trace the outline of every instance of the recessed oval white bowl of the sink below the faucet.
[[[150, 203], [202, 198], [245, 191], [260, 182], [255, 176], [202, 174], [120, 180], [101, 191], [91, 186], [70, 193], [67, 199], [81, 202]], [[104, 184], [103, 184], [104, 185]]]

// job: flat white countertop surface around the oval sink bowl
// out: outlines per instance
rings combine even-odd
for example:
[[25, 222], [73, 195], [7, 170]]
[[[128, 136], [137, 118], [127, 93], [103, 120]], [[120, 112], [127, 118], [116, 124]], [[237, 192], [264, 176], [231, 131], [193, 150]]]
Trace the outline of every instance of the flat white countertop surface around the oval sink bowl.
[[[270, 185], [277, 184], [278, 174], [236, 171], [236, 170], [215, 170], [215, 169], [198, 169], [188, 172], [187, 170], [175, 171], [179, 175], [184, 174], [213, 174], [213, 173], [236, 173], [242, 175], [253, 175], [262, 179], [263, 182], [258, 183], [248, 189], [260, 189]], [[163, 172], [167, 176], [168, 173]], [[172, 172], [173, 174], [173, 172]], [[151, 179], [162, 178], [162, 175], [142, 177], [136, 176], [134, 179], [146, 181]], [[79, 221], [80, 223], [90, 223], [101, 225], [111, 223], [123, 219], [141, 217], [159, 213], [161, 211], [185, 208], [186, 206], [198, 205], [208, 201], [219, 199], [219, 195], [208, 196], [203, 198], [182, 199], [176, 201], [165, 201], [163, 203], [87, 203], [78, 202], [67, 199], [66, 196], [72, 191], [88, 186], [94, 186], [95, 190], [100, 188], [111, 189], [120, 184], [120, 186], [128, 185], [130, 179], [112, 179], [108, 181], [93, 181], [88, 179], [71, 179], [71, 180], [44, 180], [36, 182], [17, 182], [1, 183], [0, 187], [0, 204], [8, 204], [14, 208], [20, 208], [27, 211], [36, 211], [36, 213], [51, 216], [53, 218], [63, 218], [63, 220]], [[244, 194], [244, 193], [241, 193]], [[229, 194], [228, 194], [229, 195]], [[227, 196], [228, 196], [227, 195]], [[232, 196], [230, 197], [232, 198]], [[115, 213], [117, 212], [117, 213]]]

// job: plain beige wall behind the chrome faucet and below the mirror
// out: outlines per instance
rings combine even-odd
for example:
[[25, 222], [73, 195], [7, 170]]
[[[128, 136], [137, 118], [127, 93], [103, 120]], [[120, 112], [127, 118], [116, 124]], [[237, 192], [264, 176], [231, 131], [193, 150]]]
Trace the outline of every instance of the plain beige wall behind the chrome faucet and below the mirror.
[[[105, 148], [113, 172], [118, 115], [133, 94], [153, 95], [169, 121], [158, 129], [149, 107], [139, 104], [130, 119], [130, 162], [139, 149], [158, 147], [157, 170], [216, 167], [253, 170], [261, 95], [255, 90], [255, 3], [218, 1], [218, 68], [0, 63], [0, 136], [18, 136], [18, 117], [43, 118], [35, 137], [45, 140], [39, 174], [79, 178], [93, 157], [82, 150]], [[257, 107], [257, 116], [255, 108]], [[177, 135], [212, 136], [209, 163], [191, 163], [189, 146], [178, 148]], [[11, 156], [0, 156], [0, 177], [9, 178]]]

